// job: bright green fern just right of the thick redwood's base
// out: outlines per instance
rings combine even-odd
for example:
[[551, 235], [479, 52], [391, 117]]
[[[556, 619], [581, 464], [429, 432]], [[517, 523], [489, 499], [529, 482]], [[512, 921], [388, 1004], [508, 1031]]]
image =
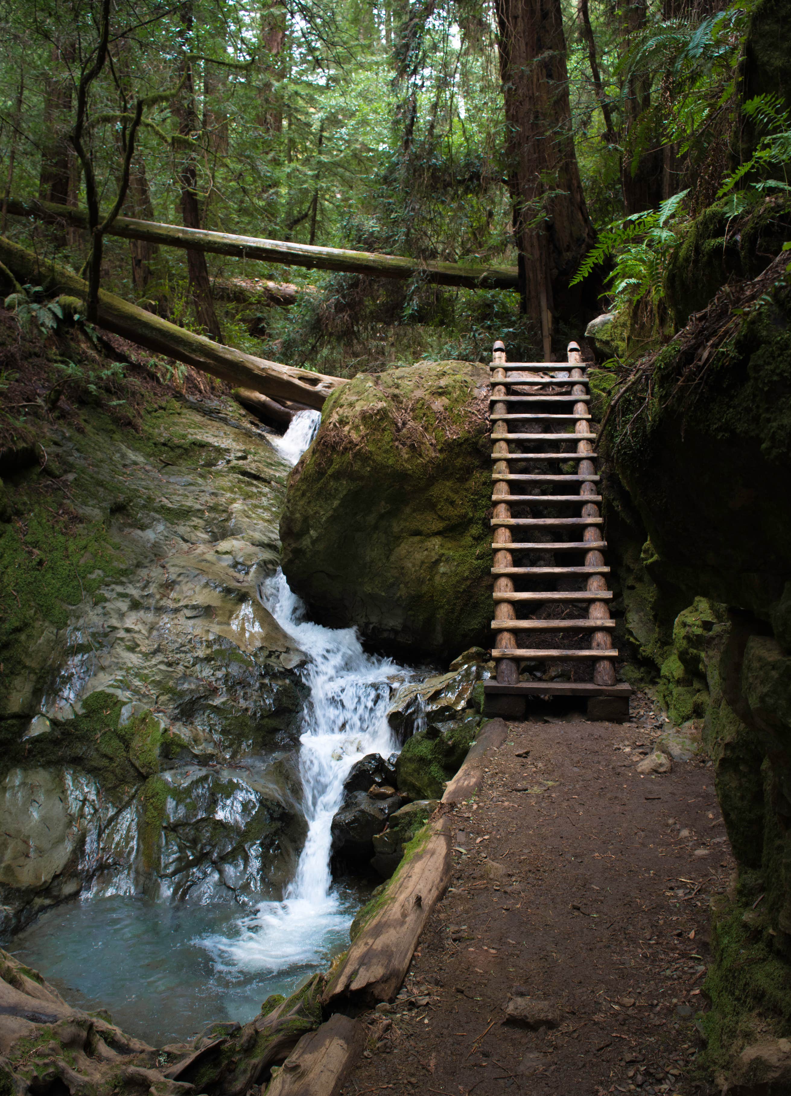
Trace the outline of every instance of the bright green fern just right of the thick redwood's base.
[[688, 193], [680, 191], [663, 202], [658, 209], [635, 213], [613, 221], [600, 233], [596, 247], [587, 253], [570, 284], [576, 285], [599, 263], [613, 259], [612, 271], [604, 278], [613, 307], [631, 306], [642, 298], [658, 315], [665, 271], [678, 243], [678, 236], [669, 222], [678, 214]]

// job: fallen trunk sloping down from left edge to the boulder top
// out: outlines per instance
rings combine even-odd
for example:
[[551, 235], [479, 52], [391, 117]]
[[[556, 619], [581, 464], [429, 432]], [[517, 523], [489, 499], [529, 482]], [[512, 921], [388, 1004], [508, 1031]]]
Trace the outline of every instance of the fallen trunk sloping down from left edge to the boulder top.
[[[84, 301], [88, 283], [71, 271], [47, 262], [32, 251], [0, 237], [0, 262], [18, 282], [41, 285], [52, 293], [77, 297]], [[327, 377], [321, 373], [295, 369], [279, 362], [267, 362], [251, 354], [244, 354], [233, 346], [223, 346], [203, 335], [129, 305], [114, 293], [99, 293], [99, 327], [128, 339], [158, 354], [192, 365], [203, 373], [227, 380], [239, 388], [251, 388], [276, 399], [296, 400], [320, 410], [327, 397], [347, 381], [342, 377]]]

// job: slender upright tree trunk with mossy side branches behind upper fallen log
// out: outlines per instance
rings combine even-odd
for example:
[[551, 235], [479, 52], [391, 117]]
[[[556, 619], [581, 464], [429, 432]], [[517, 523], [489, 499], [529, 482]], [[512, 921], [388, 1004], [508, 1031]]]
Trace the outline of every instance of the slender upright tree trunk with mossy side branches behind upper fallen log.
[[[181, 4], [181, 26], [187, 41], [189, 41], [192, 32], [193, 19], [192, 0], [185, 0]], [[187, 58], [187, 52], [184, 49], [185, 56], [182, 62], [187, 71], [184, 89], [179, 104], [179, 133], [184, 137], [194, 138], [195, 134], [200, 130], [200, 121], [195, 107], [194, 71], [192, 61]], [[179, 172], [179, 184], [181, 187], [181, 219], [184, 228], [202, 228], [201, 204], [197, 196], [197, 156], [192, 148], [188, 148], [184, 151], [184, 159]], [[222, 342], [223, 332], [219, 327], [217, 313], [214, 310], [212, 282], [208, 277], [206, 256], [203, 251], [196, 251], [194, 248], [188, 249], [187, 270], [195, 319], [212, 339]]]

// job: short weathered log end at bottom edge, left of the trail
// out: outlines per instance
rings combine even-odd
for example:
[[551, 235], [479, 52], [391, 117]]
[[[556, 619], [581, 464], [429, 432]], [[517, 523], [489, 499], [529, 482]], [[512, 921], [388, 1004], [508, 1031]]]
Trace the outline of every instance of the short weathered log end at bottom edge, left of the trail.
[[267, 1096], [338, 1096], [364, 1044], [362, 1024], [336, 1013], [272, 1070]]

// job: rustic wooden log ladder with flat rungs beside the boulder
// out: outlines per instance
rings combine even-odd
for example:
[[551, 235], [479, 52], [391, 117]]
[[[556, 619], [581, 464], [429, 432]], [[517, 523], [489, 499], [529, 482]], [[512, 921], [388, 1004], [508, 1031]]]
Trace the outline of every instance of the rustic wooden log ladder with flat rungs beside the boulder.
[[[567, 364], [506, 363], [501, 342], [495, 343], [491, 357], [491, 655], [497, 678], [484, 684], [486, 711], [519, 718], [531, 696], [576, 696], [587, 698], [589, 718], [628, 719], [632, 689], [615, 681], [596, 434], [579, 346], [568, 344]], [[542, 493], [542, 488], [557, 493]], [[532, 516], [536, 507], [562, 516]], [[515, 509], [531, 516], [515, 516]], [[558, 567], [555, 555], [561, 552], [564, 566]], [[532, 557], [539, 553], [542, 559], [535, 562]], [[575, 556], [584, 557], [581, 566]], [[572, 616], [561, 615], [567, 610]], [[569, 637], [572, 646], [564, 644]], [[546, 639], [550, 646], [542, 646]], [[524, 660], [586, 669], [581, 681], [520, 681]]]

